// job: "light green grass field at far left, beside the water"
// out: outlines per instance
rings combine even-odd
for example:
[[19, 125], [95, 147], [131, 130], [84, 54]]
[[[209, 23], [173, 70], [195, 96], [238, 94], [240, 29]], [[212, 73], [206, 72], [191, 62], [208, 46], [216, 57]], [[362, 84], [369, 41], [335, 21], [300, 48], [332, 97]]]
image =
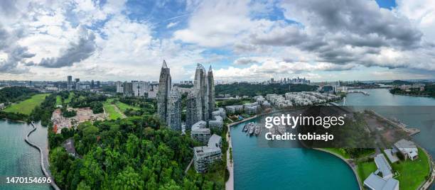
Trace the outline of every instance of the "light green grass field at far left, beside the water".
[[23, 113], [28, 116], [32, 113], [33, 108], [39, 106], [45, 100], [45, 96], [48, 96], [48, 94], [33, 95], [30, 99], [20, 101], [18, 104], [14, 104], [5, 108], [4, 111], [12, 113]]

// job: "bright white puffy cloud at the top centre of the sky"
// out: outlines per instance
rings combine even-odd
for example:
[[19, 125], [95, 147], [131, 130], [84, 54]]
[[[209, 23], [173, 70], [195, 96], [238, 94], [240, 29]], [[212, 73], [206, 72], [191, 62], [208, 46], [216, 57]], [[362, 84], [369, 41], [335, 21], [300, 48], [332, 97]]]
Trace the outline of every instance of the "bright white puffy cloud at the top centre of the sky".
[[188, 28], [177, 30], [176, 40], [205, 47], [235, 42], [235, 36], [251, 27], [249, 1], [202, 1], [188, 21]]

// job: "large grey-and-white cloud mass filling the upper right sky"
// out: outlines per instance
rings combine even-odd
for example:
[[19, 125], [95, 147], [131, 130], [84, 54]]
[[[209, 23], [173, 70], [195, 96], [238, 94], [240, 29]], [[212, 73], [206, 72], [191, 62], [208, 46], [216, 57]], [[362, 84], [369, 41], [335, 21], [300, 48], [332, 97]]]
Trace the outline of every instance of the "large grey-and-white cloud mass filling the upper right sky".
[[[296, 47], [314, 55], [316, 62], [388, 68], [414, 66], [409, 60], [386, 60], [380, 57], [382, 50], [409, 57], [412, 52], [434, 48], [408, 18], [380, 9], [375, 1], [291, 0], [280, 6], [284, 16], [296, 23], [252, 31], [252, 44]], [[434, 55], [427, 55], [429, 59], [421, 60], [420, 65], [430, 64]]]

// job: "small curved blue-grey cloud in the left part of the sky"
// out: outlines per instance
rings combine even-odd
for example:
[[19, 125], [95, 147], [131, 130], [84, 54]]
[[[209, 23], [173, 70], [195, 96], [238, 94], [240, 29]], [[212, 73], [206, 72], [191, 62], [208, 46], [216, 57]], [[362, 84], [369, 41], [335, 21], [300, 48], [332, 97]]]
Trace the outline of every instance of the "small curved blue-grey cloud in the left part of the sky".
[[90, 57], [96, 50], [94, 33], [82, 28], [80, 38], [76, 43], [70, 43], [69, 47], [60, 53], [59, 57], [46, 57], [41, 60], [39, 66], [60, 68], [72, 66], [75, 62], [81, 62]]

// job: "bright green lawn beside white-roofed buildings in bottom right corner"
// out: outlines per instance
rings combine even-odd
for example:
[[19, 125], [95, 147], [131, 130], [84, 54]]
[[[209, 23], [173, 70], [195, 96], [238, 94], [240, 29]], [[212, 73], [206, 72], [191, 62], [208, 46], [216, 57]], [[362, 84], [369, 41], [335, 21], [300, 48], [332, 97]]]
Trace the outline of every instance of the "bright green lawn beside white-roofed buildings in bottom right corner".
[[399, 188], [402, 190], [417, 189], [429, 174], [429, 158], [419, 148], [419, 159], [399, 161], [392, 164], [392, 168], [399, 172]]

